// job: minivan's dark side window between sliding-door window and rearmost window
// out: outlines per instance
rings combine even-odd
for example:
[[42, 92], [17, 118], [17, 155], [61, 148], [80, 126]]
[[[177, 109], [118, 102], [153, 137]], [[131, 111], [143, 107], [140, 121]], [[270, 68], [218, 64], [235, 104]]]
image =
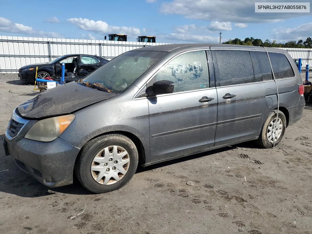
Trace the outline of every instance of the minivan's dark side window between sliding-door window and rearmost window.
[[255, 82], [273, 80], [269, 58], [264, 51], [250, 51]]

